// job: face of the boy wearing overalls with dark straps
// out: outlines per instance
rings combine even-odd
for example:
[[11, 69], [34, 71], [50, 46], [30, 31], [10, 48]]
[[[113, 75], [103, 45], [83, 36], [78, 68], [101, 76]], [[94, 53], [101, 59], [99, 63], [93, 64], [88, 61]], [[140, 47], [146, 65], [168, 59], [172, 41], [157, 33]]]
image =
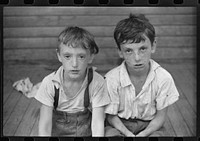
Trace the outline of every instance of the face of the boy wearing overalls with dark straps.
[[64, 68], [64, 77], [67, 80], [84, 79], [86, 68], [92, 63], [93, 54], [88, 49], [82, 47], [71, 47], [63, 43], [60, 44], [60, 52], [57, 52], [58, 60]]

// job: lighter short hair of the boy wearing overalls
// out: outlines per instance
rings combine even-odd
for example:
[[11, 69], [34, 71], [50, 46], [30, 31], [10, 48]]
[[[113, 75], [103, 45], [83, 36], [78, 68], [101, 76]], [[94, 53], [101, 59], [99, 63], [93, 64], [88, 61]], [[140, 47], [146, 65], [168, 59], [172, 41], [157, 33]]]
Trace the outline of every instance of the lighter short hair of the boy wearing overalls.
[[65, 28], [58, 37], [58, 43], [58, 51], [60, 51], [60, 44], [63, 43], [72, 47], [81, 46], [89, 49], [91, 54], [97, 54], [99, 52], [94, 36], [87, 30], [77, 26]]

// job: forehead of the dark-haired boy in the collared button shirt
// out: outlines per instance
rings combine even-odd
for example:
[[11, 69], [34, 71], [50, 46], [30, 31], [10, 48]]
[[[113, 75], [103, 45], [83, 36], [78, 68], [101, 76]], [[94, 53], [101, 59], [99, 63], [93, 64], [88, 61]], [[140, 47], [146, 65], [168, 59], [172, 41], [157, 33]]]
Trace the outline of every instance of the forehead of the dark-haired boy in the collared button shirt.
[[127, 41], [126, 43], [124, 44], [121, 44], [121, 48], [132, 48], [132, 49], [135, 49], [135, 48], [140, 48], [140, 47], [151, 47], [151, 41], [149, 40], [149, 38], [145, 38], [144, 41], [141, 41], [139, 43], [132, 43], [132, 41]]

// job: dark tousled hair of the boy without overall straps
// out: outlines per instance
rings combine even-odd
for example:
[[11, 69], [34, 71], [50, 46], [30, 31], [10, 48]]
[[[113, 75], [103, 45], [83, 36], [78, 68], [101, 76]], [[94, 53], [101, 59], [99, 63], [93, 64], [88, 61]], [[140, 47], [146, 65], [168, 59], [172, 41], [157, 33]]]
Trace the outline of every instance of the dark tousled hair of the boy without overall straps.
[[126, 42], [139, 43], [145, 41], [145, 35], [153, 44], [155, 29], [143, 14], [130, 14], [129, 18], [119, 21], [114, 30], [114, 39], [119, 50], [121, 50], [120, 45]]

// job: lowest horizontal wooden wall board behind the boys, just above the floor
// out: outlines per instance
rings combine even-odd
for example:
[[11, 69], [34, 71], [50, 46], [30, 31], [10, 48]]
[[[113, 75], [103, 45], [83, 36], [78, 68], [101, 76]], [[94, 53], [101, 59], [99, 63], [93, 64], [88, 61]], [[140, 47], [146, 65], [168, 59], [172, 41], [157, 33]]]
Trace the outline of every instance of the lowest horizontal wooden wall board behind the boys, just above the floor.
[[[193, 59], [193, 48], [158, 48], [156, 53], [152, 55], [153, 59]], [[10, 60], [57, 60], [55, 49], [17, 49], [4, 50], [4, 59]], [[96, 63], [112, 63], [117, 61], [119, 56], [115, 49], [102, 49], [101, 53], [95, 56]], [[113, 64], [113, 63], [112, 63]], [[116, 64], [116, 63], [114, 63]]]

